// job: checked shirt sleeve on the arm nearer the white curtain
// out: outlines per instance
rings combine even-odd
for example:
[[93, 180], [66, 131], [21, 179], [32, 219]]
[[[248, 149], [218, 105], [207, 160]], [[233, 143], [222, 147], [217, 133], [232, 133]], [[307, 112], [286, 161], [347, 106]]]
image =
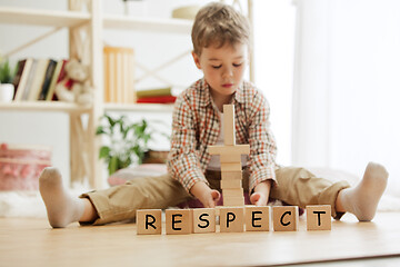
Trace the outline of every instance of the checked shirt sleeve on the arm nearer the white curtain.
[[261, 181], [271, 179], [276, 182], [277, 144], [270, 129], [270, 107], [264, 97], [254, 96], [249, 127], [250, 144], [250, 194]]

